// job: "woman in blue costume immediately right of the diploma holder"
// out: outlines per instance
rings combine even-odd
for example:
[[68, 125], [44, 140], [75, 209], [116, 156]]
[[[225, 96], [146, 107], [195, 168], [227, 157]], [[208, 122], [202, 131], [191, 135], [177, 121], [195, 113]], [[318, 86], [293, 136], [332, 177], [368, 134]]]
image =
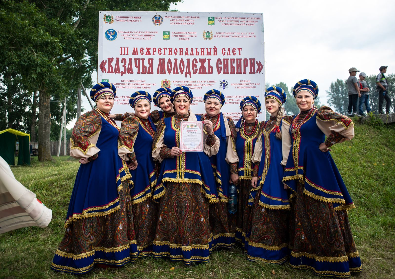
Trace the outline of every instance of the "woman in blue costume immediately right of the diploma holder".
[[233, 120], [227, 119], [221, 112], [225, 104], [225, 96], [220, 91], [212, 89], [203, 97], [206, 119], [213, 122], [214, 134], [220, 140], [220, 148], [215, 156], [210, 157], [214, 177], [218, 183], [219, 203], [210, 205], [210, 225], [213, 234], [214, 248], [229, 248], [235, 244], [235, 214], [228, 212], [229, 184], [239, 180], [237, 162], [239, 157], [235, 150], [236, 129]]

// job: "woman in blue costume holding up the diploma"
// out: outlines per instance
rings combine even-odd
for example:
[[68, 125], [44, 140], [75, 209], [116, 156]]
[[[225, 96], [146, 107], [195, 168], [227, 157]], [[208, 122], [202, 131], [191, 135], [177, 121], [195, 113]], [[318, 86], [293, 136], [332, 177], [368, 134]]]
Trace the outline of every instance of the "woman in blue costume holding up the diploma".
[[219, 139], [210, 120], [189, 111], [188, 87], [176, 87], [171, 97], [176, 114], [159, 122], [152, 145], [152, 157], [161, 162], [154, 198], [163, 195], [153, 254], [186, 265], [208, 262], [209, 202], [218, 202], [209, 156], [218, 153]]

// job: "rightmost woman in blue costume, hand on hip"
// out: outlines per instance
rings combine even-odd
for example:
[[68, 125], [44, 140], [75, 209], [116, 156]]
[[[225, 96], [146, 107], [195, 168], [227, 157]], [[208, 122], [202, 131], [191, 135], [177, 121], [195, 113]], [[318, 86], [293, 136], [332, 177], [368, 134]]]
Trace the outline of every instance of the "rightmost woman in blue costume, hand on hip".
[[282, 141], [283, 181], [293, 192], [290, 264], [317, 275], [349, 277], [362, 270], [347, 213], [355, 206], [328, 151], [354, 137], [354, 123], [327, 106], [314, 107], [318, 86], [312, 80], [297, 82], [293, 95], [301, 112], [290, 123], [288, 142], [283, 129]]

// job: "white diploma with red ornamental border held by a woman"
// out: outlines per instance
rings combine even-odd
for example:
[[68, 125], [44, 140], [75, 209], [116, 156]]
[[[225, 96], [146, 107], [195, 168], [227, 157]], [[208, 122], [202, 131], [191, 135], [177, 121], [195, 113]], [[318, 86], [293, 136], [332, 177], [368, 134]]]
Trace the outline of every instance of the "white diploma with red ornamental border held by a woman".
[[181, 121], [181, 151], [203, 151], [203, 121]]

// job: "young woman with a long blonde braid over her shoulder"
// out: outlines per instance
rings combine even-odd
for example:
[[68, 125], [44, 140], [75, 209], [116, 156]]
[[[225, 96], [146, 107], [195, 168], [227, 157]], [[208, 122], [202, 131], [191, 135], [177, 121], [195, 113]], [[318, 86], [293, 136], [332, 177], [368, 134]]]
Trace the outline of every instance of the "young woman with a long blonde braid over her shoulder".
[[[246, 234], [247, 259], [281, 264], [288, 259], [289, 194], [282, 177], [282, 105], [287, 96], [278, 86], [266, 89], [265, 106], [270, 113], [255, 144], [252, 162], [251, 207]], [[288, 136], [288, 132], [286, 133]]]

